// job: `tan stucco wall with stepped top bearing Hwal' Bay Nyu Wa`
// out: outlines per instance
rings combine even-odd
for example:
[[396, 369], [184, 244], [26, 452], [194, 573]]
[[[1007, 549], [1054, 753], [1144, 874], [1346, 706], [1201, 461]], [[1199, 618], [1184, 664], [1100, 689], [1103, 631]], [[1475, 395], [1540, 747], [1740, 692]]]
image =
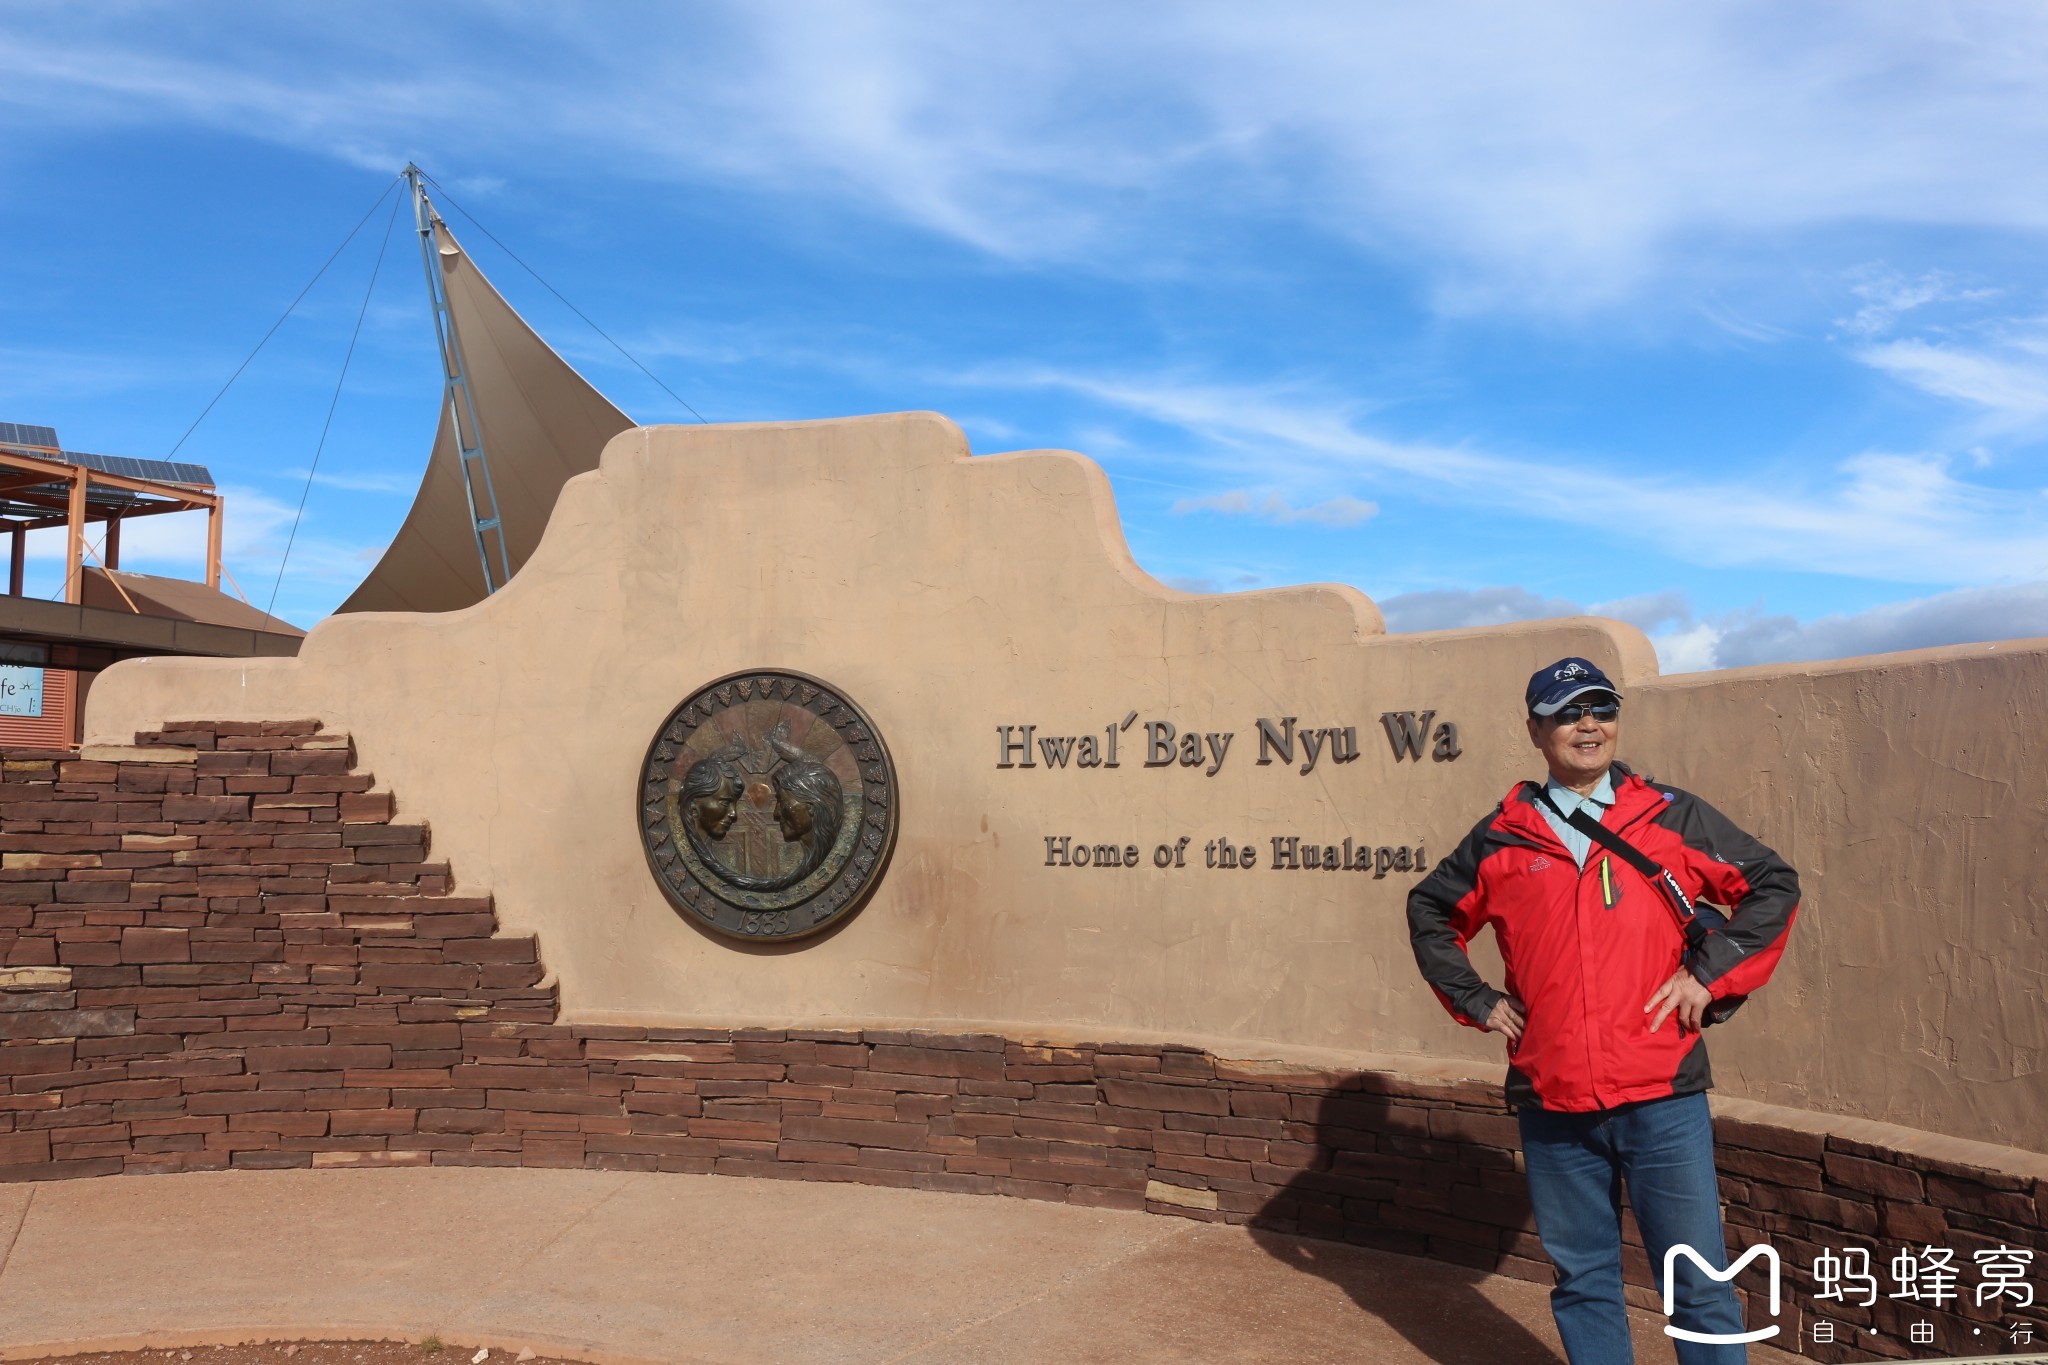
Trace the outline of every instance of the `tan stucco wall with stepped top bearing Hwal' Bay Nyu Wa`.
[[[1167, 589], [1096, 465], [969, 456], [907, 413], [629, 430], [498, 596], [336, 616], [297, 659], [123, 663], [86, 731], [350, 731], [436, 855], [541, 937], [569, 1019], [1065, 1029], [1499, 1076], [1497, 1042], [1415, 976], [1403, 898], [1415, 849], [1448, 853], [1538, 772], [1522, 684], [1561, 655], [1628, 692], [1624, 757], [1806, 884], [1776, 982], [1712, 1036], [1720, 1091], [2040, 1148], [2048, 643], [1661, 679], [1610, 620], [1389, 636], [1350, 587]], [[901, 780], [874, 898], [801, 945], [698, 929], [639, 839], [655, 731], [743, 669], [844, 692]], [[1225, 843], [1255, 866], [1210, 868]], [[1137, 866], [1059, 866], [1077, 845]], [[1307, 845], [1352, 866], [1272, 866]]]

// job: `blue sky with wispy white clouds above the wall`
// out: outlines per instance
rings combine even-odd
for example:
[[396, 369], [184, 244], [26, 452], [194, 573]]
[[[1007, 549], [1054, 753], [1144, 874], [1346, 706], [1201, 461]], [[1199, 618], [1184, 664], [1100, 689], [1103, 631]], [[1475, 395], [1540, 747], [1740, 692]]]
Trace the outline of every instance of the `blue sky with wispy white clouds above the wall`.
[[[418, 160], [709, 420], [1081, 450], [1182, 587], [1593, 608], [1667, 671], [2048, 634], [2038, 6], [16, 0], [0, 51], [0, 420], [72, 448], [168, 454]], [[258, 606], [385, 221], [178, 452]], [[375, 561], [436, 403], [399, 223], [281, 614]]]

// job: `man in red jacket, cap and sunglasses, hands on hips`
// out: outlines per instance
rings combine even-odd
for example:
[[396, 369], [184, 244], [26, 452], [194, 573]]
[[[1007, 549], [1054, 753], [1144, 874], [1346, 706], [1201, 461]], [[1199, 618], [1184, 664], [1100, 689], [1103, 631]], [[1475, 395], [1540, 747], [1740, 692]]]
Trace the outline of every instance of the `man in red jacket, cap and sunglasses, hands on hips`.
[[[1659, 1283], [1677, 1244], [1726, 1269], [1700, 1029], [1769, 980], [1798, 878], [1704, 800], [1614, 761], [1622, 696], [1593, 663], [1538, 669], [1524, 700], [1550, 778], [1507, 792], [1409, 892], [1409, 939], [1452, 1017], [1507, 1040], [1567, 1355], [1624, 1365], [1624, 1185]], [[1464, 954], [1485, 925], [1505, 993]], [[1690, 1334], [1679, 1361], [1743, 1361], [1726, 1340], [1743, 1334], [1733, 1287], [1686, 1257], [1673, 1279], [1671, 1324]]]

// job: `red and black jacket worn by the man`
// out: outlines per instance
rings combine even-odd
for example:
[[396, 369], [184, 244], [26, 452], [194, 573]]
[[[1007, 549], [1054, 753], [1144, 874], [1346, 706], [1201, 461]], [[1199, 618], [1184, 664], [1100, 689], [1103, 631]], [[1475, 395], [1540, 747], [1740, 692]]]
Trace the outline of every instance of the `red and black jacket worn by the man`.
[[[1522, 782], [1409, 892], [1415, 964], [1444, 1009], [1485, 1027], [1501, 993], [1464, 945], [1485, 925], [1507, 964], [1528, 1027], [1507, 1068], [1507, 1099], [1540, 1109], [1612, 1109], [1712, 1085], [1706, 1040], [1642, 1005], [1683, 962], [1714, 995], [1749, 995], [1778, 966], [1798, 915], [1798, 876], [1778, 853], [1690, 792], [1612, 769], [1602, 825], [1663, 864], [1694, 900], [1731, 909], [1688, 956], [1669, 900], [1593, 843], [1581, 870]], [[1597, 810], [1597, 806], [1593, 806]]]

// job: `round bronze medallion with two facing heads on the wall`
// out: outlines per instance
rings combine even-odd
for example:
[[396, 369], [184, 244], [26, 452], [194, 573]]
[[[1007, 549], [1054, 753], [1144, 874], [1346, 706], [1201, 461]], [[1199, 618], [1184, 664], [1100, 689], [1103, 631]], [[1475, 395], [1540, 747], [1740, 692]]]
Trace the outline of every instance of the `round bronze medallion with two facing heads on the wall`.
[[895, 765], [866, 714], [803, 673], [733, 673], [670, 712], [639, 784], [662, 890], [735, 939], [801, 939], [883, 876]]

